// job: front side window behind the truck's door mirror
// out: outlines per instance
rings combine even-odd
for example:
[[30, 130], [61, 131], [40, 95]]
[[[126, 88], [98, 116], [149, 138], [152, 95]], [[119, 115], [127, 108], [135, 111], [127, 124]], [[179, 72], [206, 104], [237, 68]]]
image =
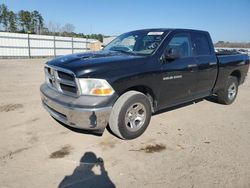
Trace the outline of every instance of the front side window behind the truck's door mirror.
[[191, 42], [189, 35], [178, 34], [175, 35], [167, 46], [167, 51], [175, 49], [179, 52], [180, 57], [189, 57], [191, 56]]

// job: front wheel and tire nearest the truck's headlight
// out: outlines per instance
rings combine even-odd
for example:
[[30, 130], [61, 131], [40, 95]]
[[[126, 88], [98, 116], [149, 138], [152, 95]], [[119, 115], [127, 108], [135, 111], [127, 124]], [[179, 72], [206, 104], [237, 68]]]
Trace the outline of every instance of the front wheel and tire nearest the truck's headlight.
[[109, 117], [109, 128], [121, 139], [134, 139], [144, 133], [151, 114], [147, 96], [137, 91], [128, 91], [114, 104]]

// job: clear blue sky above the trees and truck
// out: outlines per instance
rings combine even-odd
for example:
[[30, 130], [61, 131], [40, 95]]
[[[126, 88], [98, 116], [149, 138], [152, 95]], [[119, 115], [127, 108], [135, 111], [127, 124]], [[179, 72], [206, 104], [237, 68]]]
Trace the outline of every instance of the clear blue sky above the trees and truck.
[[75, 32], [119, 35], [144, 28], [210, 32], [214, 42], [250, 42], [250, 0], [1, 0], [18, 12], [38, 10], [46, 23]]

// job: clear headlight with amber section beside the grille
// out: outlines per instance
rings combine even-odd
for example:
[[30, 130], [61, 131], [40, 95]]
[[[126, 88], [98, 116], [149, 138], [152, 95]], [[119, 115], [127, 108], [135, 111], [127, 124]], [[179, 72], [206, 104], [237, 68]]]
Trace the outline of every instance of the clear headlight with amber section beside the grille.
[[114, 93], [106, 80], [80, 78], [80, 93], [82, 95], [108, 96]]

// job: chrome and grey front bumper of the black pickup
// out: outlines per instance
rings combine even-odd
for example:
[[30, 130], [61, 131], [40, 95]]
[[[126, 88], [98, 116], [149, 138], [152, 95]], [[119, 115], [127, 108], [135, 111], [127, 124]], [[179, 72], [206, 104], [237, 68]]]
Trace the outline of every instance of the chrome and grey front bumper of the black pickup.
[[[96, 107], [96, 105], [91, 107], [88, 105], [89, 101], [94, 100], [93, 97], [67, 96], [58, 93], [46, 84], [41, 86], [40, 92], [44, 108], [58, 121], [70, 127], [89, 131], [100, 132], [107, 126], [112, 103], [105, 107]], [[102, 100], [107, 101], [105, 98]]]

